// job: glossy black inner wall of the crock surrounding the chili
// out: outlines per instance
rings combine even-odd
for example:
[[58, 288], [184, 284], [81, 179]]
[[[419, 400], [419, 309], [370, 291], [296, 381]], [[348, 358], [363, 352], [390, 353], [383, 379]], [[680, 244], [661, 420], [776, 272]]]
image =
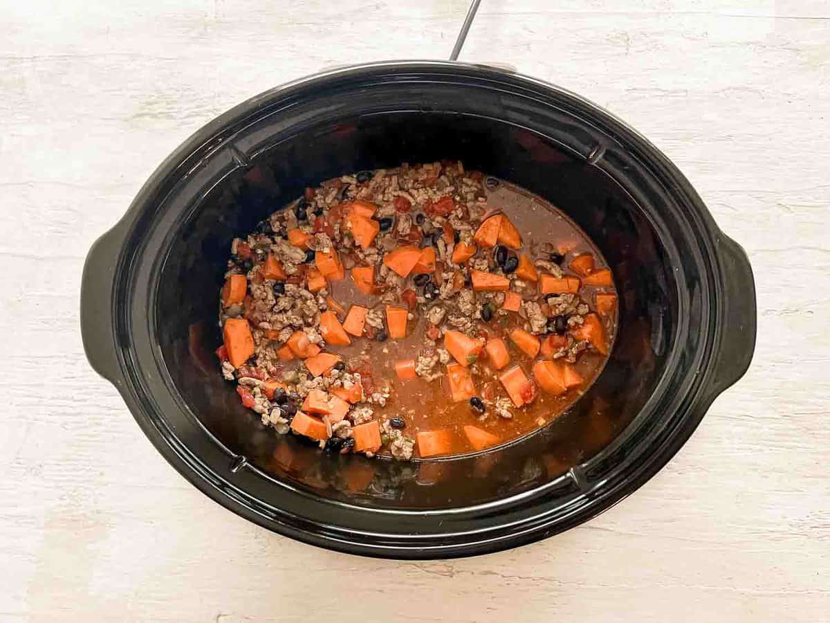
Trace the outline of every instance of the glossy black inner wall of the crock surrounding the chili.
[[[188, 411], [237, 457], [282, 485], [316, 496], [374, 508], [452, 508], [486, 503], [549, 484], [548, 494], [579, 493], [583, 478], [626, 453], [621, 438], [612, 454], [585, 462], [626, 429], [655, 393], [666, 357], [680, 351], [678, 292], [691, 296], [695, 276], [682, 272], [681, 249], [666, 249], [655, 223], [637, 200], [603, 169], [563, 142], [482, 114], [393, 110], [310, 125], [269, 143], [260, 135], [242, 166], [195, 201], [174, 231], [164, 257], [159, 291], [150, 310], [169, 374]], [[517, 117], [517, 120], [519, 118]], [[563, 132], [579, 128], [563, 117]], [[401, 162], [461, 159], [539, 194], [574, 219], [613, 268], [619, 325], [608, 365], [597, 382], [559, 419], [499, 449], [455, 459], [397, 463], [321, 453], [316, 444], [266, 429], [222, 380], [213, 351], [221, 343], [218, 292], [232, 238], [295, 199], [305, 186], [340, 174]], [[663, 237], [665, 239], [665, 237]], [[683, 278], [684, 283], [678, 279]], [[194, 440], [194, 443], [195, 440]], [[273, 483], [272, 483], [273, 484]], [[267, 499], [266, 487], [258, 496]]]

